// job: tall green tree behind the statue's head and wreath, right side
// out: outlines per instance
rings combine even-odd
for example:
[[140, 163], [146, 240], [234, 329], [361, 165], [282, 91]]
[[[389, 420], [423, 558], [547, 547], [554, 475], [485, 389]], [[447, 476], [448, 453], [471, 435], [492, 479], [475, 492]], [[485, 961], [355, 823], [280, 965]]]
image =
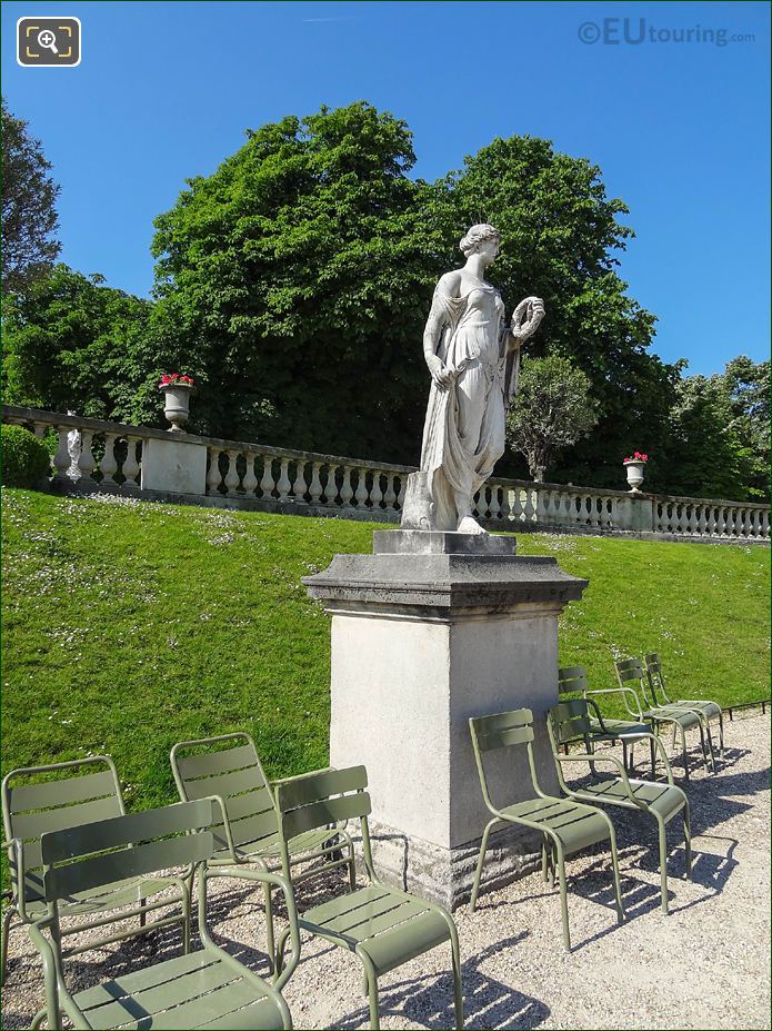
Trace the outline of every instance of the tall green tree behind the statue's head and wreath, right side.
[[655, 318], [616, 272], [633, 232], [620, 222], [626, 206], [606, 197], [600, 168], [555, 152], [549, 140], [495, 139], [437, 185], [435, 212], [449, 240], [477, 221], [501, 231], [491, 279], [508, 310], [530, 294], [547, 306], [525, 354], [565, 355], [592, 383], [598, 423], [567, 450], [557, 477], [620, 486], [631, 440], [664, 452], [679, 367], [650, 353]]

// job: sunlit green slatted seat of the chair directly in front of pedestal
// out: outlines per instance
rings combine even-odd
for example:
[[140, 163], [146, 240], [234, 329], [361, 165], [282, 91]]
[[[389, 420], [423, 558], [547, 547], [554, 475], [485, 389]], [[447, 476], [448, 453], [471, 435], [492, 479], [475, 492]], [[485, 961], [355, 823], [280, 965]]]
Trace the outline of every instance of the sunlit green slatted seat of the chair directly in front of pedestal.
[[450, 941], [447, 921], [423, 899], [368, 884], [305, 910], [308, 930], [352, 952], [365, 952], [380, 977], [435, 945]]

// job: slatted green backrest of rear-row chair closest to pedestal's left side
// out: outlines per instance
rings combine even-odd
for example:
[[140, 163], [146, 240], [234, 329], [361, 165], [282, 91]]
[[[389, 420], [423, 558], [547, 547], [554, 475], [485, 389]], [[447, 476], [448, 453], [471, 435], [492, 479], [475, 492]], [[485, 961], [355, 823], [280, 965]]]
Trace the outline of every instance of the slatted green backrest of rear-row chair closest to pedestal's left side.
[[[229, 745], [229, 747], [222, 747]], [[260, 845], [279, 831], [275, 801], [249, 734], [182, 741], [171, 750], [174, 782], [183, 802], [222, 799], [233, 845]], [[221, 819], [213, 826], [215, 855], [229, 852]]]

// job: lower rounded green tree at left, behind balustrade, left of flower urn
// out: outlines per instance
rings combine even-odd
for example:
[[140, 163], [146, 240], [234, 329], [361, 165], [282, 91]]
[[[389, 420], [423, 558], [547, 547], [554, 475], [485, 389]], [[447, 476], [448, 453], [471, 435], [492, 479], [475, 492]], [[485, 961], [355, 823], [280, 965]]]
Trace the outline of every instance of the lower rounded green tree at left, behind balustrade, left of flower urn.
[[6, 304], [6, 400], [160, 423], [158, 375], [169, 369], [148, 333], [151, 310], [150, 301], [104, 286], [103, 276], [57, 265]]

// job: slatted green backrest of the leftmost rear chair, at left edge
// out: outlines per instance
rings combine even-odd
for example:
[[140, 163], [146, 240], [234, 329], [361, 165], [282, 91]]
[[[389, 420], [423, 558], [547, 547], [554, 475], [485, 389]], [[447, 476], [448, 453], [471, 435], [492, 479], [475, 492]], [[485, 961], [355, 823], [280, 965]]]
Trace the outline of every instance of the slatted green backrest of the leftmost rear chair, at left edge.
[[[48, 779], [41, 781], [44, 776]], [[43, 899], [42, 834], [126, 812], [118, 773], [107, 755], [11, 770], [3, 779], [1, 794], [6, 839], [22, 842], [23, 870], [18, 869], [16, 853], [10, 857], [17, 903], [20, 891], [24, 903]]]

